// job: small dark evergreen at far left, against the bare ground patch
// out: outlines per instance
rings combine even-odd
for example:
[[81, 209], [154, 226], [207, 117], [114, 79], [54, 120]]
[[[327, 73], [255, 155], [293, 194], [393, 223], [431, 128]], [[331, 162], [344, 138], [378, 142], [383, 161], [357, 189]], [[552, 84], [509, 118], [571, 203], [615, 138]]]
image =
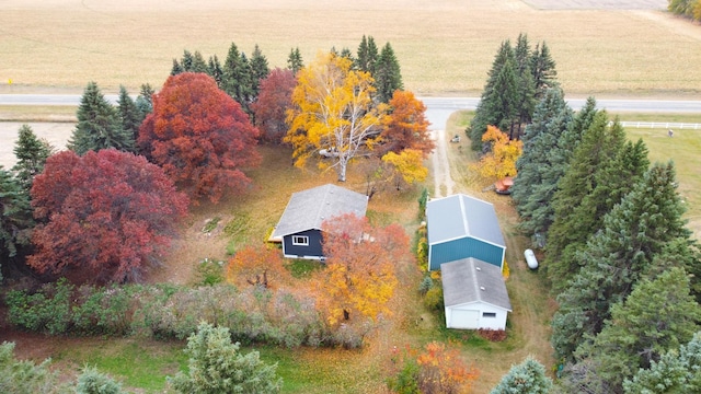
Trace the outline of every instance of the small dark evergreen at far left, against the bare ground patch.
[[16, 164], [12, 167], [18, 181], [25, 193], [30, 194], [34, 176], [44, 171], [44, 163], [51, 154], [51, 146], [46, 140], [36, 137], [28, 125], [20, 127], [18, 141], [14, 143]]

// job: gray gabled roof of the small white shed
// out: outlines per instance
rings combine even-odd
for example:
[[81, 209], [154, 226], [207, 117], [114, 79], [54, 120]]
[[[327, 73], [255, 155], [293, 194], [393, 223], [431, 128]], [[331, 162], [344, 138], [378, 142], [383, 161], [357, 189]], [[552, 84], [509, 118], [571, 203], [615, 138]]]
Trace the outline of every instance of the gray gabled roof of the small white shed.
[[441, 264], [440, 271], [446, 306], [481, 301], [512, 311], [499, 267], [468, 257]]

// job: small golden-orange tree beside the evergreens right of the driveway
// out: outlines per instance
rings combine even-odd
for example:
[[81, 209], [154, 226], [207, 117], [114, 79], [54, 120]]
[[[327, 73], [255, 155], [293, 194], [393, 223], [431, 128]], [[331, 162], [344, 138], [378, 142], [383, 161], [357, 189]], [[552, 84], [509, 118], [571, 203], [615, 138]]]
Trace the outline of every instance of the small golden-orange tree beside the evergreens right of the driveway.
[[472, 169], [489, 179], [515, 176], [516, 161], [524, 151], [524, 142], [509, 140], [505, 132], [491, 125], [486, 127], [482, 142], [490, 143], [492, 149]]

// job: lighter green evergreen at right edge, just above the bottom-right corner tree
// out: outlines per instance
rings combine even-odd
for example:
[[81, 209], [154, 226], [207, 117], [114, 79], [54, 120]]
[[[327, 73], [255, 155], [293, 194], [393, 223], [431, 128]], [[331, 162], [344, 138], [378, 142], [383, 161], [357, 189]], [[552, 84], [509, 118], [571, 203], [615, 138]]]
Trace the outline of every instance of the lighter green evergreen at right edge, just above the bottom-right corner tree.
[[597, 375], [621, 392], [624, 379], [691, 340], [699, 322], [701, 309], [689, 291], [689, 278], [683, 268], [673, 267], [653, 280], [640, 280], [625, 301], [611, 305], [611, 320], [576, 357], [595, 359]]

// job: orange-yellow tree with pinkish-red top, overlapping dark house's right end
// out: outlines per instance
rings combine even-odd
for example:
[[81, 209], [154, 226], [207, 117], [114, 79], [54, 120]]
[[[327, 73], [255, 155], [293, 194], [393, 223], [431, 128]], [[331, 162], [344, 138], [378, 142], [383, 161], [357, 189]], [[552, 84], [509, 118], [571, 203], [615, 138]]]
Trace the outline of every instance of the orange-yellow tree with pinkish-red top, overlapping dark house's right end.
[[372, 228], [367, 218], [352, 213], [325, 221], [322, 229], [326, 267], [315, 273], [314, 283], [327, 323], [389, 313], [397, 264], [412, 258], [404, 230], [399, 224]]

